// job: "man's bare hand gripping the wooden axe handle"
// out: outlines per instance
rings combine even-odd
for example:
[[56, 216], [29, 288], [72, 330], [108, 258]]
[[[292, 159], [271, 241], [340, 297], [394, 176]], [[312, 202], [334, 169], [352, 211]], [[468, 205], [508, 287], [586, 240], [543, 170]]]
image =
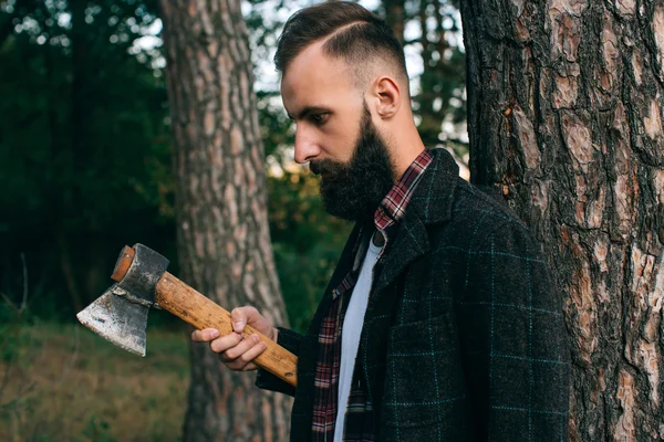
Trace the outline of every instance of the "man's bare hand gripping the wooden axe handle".
[[235, 308], [230, 312], [230, 318], [235, 333], [220, 337], [219, 330], [205, 328], [195, 330], [191, 334], [191, 340], [210, 343], [210, 349], [219, 354], [219, 359], [231, 370], [256, 370], [258, 367], [252, 360], [263, 352], [267, 346], [256, 334], [243, 338], [245, 326], [249, 324], [273, 341], [277, 341], [277, 329], [253, 307]]

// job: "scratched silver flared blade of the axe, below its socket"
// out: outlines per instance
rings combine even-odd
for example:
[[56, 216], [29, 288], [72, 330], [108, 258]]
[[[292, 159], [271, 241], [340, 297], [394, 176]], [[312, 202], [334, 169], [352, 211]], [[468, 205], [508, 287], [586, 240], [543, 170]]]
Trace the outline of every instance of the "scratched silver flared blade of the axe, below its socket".
[[145, 356], [145, 329], [149, 309], [132, 303], [108, 288], [94, 303], [79, 312], [76, 317], [87, 328], [138, 356]]

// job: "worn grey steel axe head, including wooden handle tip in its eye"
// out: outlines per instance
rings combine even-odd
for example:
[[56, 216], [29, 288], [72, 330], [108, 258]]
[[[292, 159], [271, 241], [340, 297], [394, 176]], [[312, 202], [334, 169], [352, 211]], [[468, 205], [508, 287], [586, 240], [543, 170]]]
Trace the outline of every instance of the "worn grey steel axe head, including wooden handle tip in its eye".
[[[168, 260], [142, 244], [123, 249], [117, 259], [113, 284], [76, 317], [104, 339], [133, 354], [145, 356], [147, 314], [154, 306], [157, 282], [166, 272]], [[118, 269], [131, 264], [126, 273]], [[122, 272], [120, 272], [122, 273]]]

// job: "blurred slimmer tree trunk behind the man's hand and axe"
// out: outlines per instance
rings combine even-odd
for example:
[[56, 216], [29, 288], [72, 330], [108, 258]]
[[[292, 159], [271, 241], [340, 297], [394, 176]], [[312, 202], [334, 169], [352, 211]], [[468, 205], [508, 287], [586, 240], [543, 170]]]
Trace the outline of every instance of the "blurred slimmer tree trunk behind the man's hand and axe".
[[[267, 218], [252, 65], [239, 0], [162, 0], [181, 278], [227, 309], [288, 325]], [[283, 441], [290, 400], [191, 347], [186, 441]]]

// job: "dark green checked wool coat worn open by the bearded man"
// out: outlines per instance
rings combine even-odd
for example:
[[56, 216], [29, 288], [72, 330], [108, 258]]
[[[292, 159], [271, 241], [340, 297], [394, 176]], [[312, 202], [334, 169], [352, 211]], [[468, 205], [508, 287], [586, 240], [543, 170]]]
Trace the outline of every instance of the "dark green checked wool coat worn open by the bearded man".
[[[458, 177], [443, 149], [376, 263], [356, 362], [381, 441], [567, 441], [569, 346], [562, 298], [540, 246], [501, 203]], [[311, 435], [318, 333], [353, 265], [356, 225], [304, 335], [298, 388], [259, 370], [257, 386], [294, 396], [291, 440]]]

